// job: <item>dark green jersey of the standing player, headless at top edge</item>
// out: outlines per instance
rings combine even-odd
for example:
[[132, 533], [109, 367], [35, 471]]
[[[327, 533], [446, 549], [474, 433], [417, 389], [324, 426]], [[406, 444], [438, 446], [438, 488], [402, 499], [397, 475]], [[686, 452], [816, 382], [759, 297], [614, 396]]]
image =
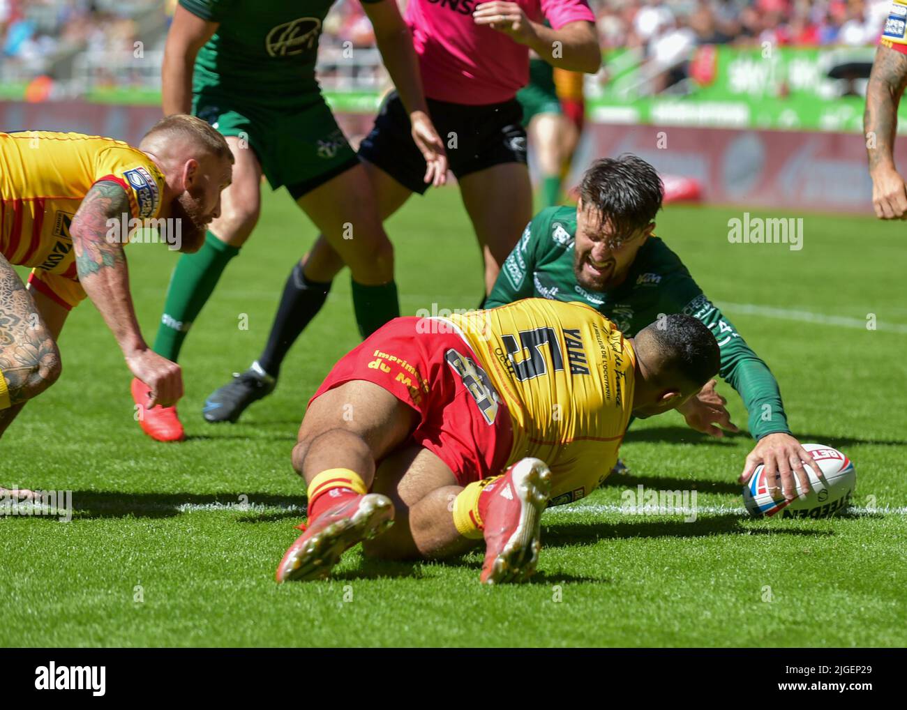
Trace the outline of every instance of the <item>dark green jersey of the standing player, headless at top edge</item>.
[[272, 107], [313, 101], [320, 94], [318, 39], [333, 2], [180, 0], [192, 15], [220, 24], [195, 60], [192, 92], [239, 95]]

